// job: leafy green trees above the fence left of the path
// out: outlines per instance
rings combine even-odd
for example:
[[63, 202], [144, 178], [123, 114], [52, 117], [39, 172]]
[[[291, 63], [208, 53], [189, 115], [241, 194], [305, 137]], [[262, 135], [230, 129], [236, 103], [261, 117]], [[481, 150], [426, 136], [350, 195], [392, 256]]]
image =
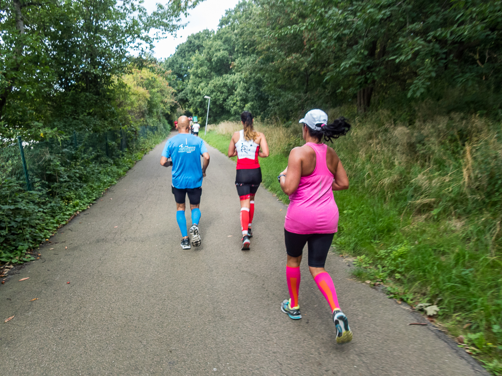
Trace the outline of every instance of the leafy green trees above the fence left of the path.
[[[148, 13], [141, 1], [7, 0], [0, 3], [0, 129], [4, 137], [127, 125], [118, 115], [131, 51], [182, 27], [200, 0]], [[161, 69], [157, 67], [156, 69]], [[85, 105], [82, 105], [85, 104]]]

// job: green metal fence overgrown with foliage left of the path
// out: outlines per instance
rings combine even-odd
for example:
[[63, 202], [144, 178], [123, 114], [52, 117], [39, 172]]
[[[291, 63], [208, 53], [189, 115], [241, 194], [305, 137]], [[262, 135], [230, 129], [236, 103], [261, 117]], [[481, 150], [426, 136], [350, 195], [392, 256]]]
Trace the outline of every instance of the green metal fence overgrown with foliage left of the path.
[[69, 162], [78, 155], [99, 158], [117, 158], [126, 151], [134, 151], [149, 135], [164, 132], [156, 126], [143, 126], [135, 130], [113, 130], [103, 133], [81, 133], [39, 142], [23, 140], [21, 136], [0, 149], [0, 183], [15, 179], [27, 191], [36, 191], [41, 183], [54, 178], [57, 164]]

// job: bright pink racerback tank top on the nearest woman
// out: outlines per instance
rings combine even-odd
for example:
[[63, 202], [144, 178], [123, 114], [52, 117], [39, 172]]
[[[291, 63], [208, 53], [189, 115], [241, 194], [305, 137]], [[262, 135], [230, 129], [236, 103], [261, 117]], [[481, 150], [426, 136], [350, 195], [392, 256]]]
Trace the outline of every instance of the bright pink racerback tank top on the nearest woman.
[[333, 174], [326, 163], [324, 143], [307, 142], [315, 151], [316, 166], [300, 178], [298, 189], [289, 197], [284, 228], [295, 234], [332, 234], [338, 231], [338, 207], [331, 190]]

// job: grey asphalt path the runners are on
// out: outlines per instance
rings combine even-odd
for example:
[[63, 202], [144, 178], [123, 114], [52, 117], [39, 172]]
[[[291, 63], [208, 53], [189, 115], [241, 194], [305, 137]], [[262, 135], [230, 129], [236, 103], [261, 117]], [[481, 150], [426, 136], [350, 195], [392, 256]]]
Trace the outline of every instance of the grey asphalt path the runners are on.
[[202, 245], [182, 250], [162, 147], [0, 285], [0, 376], [487, 374], [438, 329], [408, 325], [425, 320], [353, 280], [335, 253], [326, 269], [352, 342], [336, 343], [306, 262], [303, 318], [289, 319], [287, 207], [261, 187], [251, 250], [241, 251], [235, 164], [212, 147]]

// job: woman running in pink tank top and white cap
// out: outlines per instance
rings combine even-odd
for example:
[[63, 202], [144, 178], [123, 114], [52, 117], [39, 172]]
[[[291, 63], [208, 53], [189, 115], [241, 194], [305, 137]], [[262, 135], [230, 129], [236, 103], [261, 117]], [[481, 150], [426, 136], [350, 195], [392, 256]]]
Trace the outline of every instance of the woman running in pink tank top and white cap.
[[347, 316], [340, 310], [333, 280], [324, 269], [326, 257], [338, 230], [338, 207], [333, 191], [346, 190], [348, 177], [335, 151], [323, 143], [347, 133], [345, 118], [328, 123], [328, 115], [315, 109], [300, 120], [305, 145], [291, 150], [288, 166], [278, 176], [281, 189], [290, 198], [284, 222], [284, 239], [288, 255], [286, 279], [290, 299], [281, 310], [292, 319], [300, 319], [298, 290], [303, 248], [308, 244], [310, 274], [331, 308], [338, 343], [352, 340]]

